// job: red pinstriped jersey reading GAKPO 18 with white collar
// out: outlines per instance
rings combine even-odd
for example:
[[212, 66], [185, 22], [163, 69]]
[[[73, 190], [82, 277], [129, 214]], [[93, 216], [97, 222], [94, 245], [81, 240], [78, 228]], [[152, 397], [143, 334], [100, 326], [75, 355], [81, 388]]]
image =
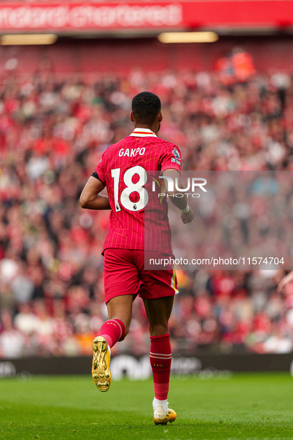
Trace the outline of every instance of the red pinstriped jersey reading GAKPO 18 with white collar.
[[159, 179], [151, 173], [170, 168], [181, 169], [178, 147], [147, 128], [135, 128], [103, 153], [95, 170], [112, 207], [103, 252], [120, 248], [172, 253], [168, 203], [166, 196], [159, 196], [163, 191], [153, 184]]

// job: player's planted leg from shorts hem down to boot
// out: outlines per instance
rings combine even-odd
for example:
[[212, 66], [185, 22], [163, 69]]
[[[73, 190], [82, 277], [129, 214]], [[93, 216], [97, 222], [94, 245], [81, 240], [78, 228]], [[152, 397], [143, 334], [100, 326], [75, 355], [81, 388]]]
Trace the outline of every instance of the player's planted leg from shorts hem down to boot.
[[155, 390], [154, 422], [166, 425], [176, 419], [176, 412], [168, 408], [167, 402], [172, 360], [168, 321], [173, 308], [174, 296], [144, 298], [143, 302], [151, 335], [150, 363]]

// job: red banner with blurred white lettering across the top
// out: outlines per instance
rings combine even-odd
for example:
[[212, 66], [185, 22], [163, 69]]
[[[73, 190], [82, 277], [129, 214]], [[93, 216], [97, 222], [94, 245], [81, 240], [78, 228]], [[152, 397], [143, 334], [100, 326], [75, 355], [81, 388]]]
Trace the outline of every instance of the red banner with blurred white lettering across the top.
[[0, 3], [0, 32], [292, 25], [291, 0]]

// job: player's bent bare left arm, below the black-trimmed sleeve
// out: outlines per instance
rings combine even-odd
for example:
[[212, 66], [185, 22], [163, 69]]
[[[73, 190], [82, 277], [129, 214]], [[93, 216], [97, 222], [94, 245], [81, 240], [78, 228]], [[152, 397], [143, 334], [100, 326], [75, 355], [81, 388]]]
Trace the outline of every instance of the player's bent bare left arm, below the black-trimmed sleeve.
[[91, 176], [80, 194], [80, 206], [87, 209], [111, 209], [109, 197], [99, 194], [104, 188], [103, 182]]

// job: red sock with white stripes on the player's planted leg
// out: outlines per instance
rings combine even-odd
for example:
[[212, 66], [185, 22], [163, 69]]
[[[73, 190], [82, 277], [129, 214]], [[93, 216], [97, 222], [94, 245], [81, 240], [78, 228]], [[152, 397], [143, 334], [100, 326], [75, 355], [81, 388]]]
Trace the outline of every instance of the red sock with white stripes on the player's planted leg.
[[171, 371], [170, 334], [151, 336], [150, 362], [153, 370], [155, 397], [166, 400], [169, 391]]

